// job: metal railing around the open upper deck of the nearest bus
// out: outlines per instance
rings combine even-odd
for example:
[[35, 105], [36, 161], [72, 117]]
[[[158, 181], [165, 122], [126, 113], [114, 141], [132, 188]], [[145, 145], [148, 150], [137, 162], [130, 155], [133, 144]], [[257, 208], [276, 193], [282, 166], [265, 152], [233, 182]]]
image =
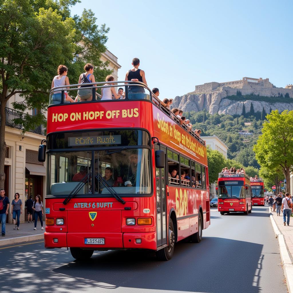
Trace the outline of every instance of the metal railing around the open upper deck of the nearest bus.
[[[197, 136], [195, 134], [195, 132], [186, 125], [186, 123], [180, 124], [179, 118], [176, 115], [174, 115], [169, 108], [166, 108], [164, 106], [164, 103], [161, 102], [161, 100], [159, 100], [154, 95], [154, 93], [151, 91], [151, 89], [146, 84], [144, 84], [143, 82], [140, 82], [140, 81], [125, 81], [125, 80], [124, 81], [113, 81], [114, 85], [108, 85], [108, 86], [105, 86], [104, 85], [105, 83], [107, 83], [107, 81], [87, 83], [86, 85], [88, 85], [88, 86], [85, 86], [85, 84], [70, 84], [68, 86], [56, 86], [56, 87], [54, 87], [54, 88], [52, 88], [50, 90], [50, 102], [51, 102], [51, 97], [52, 97], [52, 95], [54, 93], [60, 93], [61, 92], [61, 96], [64, 96], [64, 91], [70, 92], [70, 91], [76, 91], [76, 90], [79, 90], [79, 89], [92, 89], [93, 91], [96, 91], [96, 89], [98, 89], [98, 88], [109, 88], [109, 87], [125, 87], [125, 98], [121, 99], [120, 101], [134, 100], [134, 99], [129, 99], [128, 98], [128, 95], [135, 94], [135, 93], [132, 93], [132, 92], [129, 93], [129, 88], [128, 87], [129, 86], [143, 87], [143, 88], [147, 89], [147, 91], [149, 91], [149, 96], [146, 94], [146, 97], [144, 99], [148, 99], [152, 103], [154, 103], [158, 108], [161, 109], [161, 111], [163, 111], [165, 114], [170, 116], [171, 119], [173, 119], [175, 122], [177, 122], [191, 136], [193, 136], [198, 142], [200, 142], [200, 144], [205, 146], [205, 141], [202, 140], [199, 136]], [[101, 95], [99, 93], [96, 92], [95, 95], [93, 95], [93, 96], [95, 96], [95, 98], [93, 98], [93, 100], [90, 101], [90, 102], [103, 102], [103, 100], [102, 101], [96, 100], [96, 96], [98, 98], [101, 98]], [[117, 99], [117, 100], [112, 100], [112, 101], [119, 101], [119, 100]], [[86, 103], [90, 103], [90, 102], [86, 102]], [[50, 104], [50, 105], [52, 105], [52, 104]], [[60, 103], [58, 103], [58, 104], [64, 104], [64, 100], [61, 99]], [[66, 103], [66, 104], [69, 104], [69, 103]]]

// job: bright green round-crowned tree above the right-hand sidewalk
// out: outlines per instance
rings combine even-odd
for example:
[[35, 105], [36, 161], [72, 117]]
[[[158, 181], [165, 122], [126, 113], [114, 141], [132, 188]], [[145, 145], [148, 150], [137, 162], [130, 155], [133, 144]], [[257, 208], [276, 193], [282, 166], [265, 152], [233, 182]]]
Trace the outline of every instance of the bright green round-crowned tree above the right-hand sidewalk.
[[255, 157], [261, 167], [282, 170], [289, 192], [293, 165], [293, 111], [285, 110], [280, 114], [275, 110], [267, 115], [267, 119], [268, 122], [263, 124], [262, 135], [253, 147]]

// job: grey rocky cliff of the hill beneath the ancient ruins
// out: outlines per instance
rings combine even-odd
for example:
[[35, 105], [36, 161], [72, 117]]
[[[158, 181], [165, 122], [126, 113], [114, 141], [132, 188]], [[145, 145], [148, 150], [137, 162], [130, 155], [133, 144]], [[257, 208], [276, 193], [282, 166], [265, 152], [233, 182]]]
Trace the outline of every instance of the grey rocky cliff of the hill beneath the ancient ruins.
[[[242, 97], [237, 95], [238, 92], [241, 92]], [[246, 95], [250, 99], [246, 99]], [[220, 86], [205, 93], [194, 91], [184, 96], [177, 96], [172, 106], [188, 112], [206, 110], [210, 114], [241, 115], [243, 104], [248, 112], [251, 103], [255, 112], [261, 112], [263, 108], [266, 113], [269, 113], [270, 109], [277, 109], [280, 112], [293, 110], [293, 90], [276, 87], [253, 88], [248, 85], [244, 85], [242, 88]]]

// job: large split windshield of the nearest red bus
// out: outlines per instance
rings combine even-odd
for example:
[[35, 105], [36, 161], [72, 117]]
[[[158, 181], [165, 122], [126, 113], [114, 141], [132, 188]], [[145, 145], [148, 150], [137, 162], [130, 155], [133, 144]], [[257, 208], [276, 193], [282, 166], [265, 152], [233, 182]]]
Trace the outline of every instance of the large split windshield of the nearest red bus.
[[149, 149], [109, 151], [66, 151], [48, 154], [47, 194], [76, 195], [150, 194], [151, 168]]

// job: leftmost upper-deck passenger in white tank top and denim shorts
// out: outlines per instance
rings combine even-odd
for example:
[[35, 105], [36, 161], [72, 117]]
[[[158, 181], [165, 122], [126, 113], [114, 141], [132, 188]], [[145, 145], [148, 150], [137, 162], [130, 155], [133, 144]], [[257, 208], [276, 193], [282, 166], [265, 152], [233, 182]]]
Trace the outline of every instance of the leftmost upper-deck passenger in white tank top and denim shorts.
[[[69, 79], [67, 77], [67, 71], [68, 68], [65, 65], [59, 65], [58, 69], [57, 69], [57, 73], [58, 75], [56, 75], [52, 81], [52, 87], [51, 88], [55, 88], [57, 86], [69, 86]], [[69, 88], [69, 87], [66, 87]], [[60, 91], [56, 91], [54, 92], [54, 94], [52, 95], [52, 101], [59, 101], [61, 103], [61, 90], [65, 89], [64, 88], [60, 88]], [[69, 95], [67, 94], [67, 91], [64, 91], [64, 102], [74, 102], [74, 100], [72, 98], [69, 97]]]

